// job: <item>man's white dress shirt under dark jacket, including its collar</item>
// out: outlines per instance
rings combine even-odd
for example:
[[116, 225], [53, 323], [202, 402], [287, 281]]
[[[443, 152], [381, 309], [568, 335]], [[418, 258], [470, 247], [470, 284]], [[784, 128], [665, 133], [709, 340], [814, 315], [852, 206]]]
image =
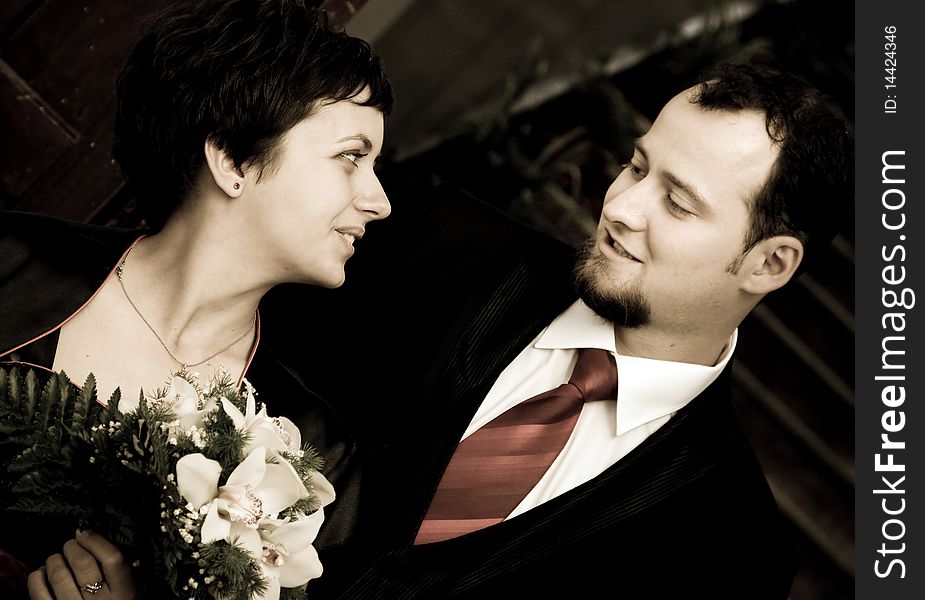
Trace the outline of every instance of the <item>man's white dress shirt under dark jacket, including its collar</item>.
[[596, 477], [668, 422], [719, 376], [735, 350], [732, 334], [715, 366], [621, 356], [613, 324], [581, 300], [553, 320], [501, 373], [463, 439], [504, 411], [568, 381], [578, 348], [601, 348], [617, 361], [617, 401], [589, 402], [565, 448], [508, 518]]

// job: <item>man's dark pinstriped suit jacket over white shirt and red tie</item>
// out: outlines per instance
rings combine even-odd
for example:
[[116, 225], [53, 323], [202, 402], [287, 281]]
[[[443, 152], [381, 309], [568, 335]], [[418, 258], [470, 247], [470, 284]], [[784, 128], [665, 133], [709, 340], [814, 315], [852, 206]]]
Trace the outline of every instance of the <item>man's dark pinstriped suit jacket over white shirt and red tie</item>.
[[[400, 184], [400, 185], [399, 185]], [[629, 456], [527, 513], [412, 546], [494, 380], [575, 299], [572, 251], [452, 190], [386, 182], [347, 284], [280, 289], [268, 318], [322, 310], [273, 344], [358, 440], [360, 525], [316, 598], [786, 598], [796, 560], [730, 401], [729, 369]], [[305, 345], [306, 341], [311, 341]]]

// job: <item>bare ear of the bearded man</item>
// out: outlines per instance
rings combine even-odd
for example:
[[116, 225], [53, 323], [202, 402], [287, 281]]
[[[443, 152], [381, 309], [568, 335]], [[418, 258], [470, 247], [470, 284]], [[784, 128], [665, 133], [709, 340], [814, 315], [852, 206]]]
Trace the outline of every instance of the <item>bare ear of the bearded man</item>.
[[755, 244], [742, 264], [742, 290], [763, 296], [784, 286], [803, 260], [803, 243], [789, 235], [777, 235]]

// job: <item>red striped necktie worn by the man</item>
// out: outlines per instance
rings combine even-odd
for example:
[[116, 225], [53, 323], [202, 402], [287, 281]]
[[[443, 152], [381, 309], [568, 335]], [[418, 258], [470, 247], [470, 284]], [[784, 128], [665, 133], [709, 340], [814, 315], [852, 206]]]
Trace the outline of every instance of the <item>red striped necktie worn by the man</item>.
[[495, 417], [459, 443], [414, 540], [428, 544], [500, 523], [549, 469], [585, 402], [616, 399], [617, 366], [582, 348], [568, 383]]

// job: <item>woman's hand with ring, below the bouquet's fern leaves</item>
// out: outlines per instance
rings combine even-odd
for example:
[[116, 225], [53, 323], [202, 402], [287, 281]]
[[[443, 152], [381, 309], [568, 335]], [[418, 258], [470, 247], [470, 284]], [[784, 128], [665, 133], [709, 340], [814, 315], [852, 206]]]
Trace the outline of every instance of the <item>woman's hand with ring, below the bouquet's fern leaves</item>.
[[32, 600], [132, 600], [135, 583], [125, 557], [109, 540], [79, 532], [29, 575]]

